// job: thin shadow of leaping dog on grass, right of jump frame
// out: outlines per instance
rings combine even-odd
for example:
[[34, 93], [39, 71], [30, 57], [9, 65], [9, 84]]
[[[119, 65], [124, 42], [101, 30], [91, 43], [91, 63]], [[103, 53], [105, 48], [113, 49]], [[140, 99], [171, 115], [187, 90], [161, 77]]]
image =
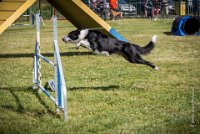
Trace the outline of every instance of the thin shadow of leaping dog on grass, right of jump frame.
[[96, 86], [96, 87], [69, 87], [68, 89], [71, 90], [71, 91], [85, 90], [85, 89], [108, 91], [108, 90], [114, 90], [114, 89], [117, 89], [117, 88], [119, 88], [119, 86], [109, 85], [109, 86]]

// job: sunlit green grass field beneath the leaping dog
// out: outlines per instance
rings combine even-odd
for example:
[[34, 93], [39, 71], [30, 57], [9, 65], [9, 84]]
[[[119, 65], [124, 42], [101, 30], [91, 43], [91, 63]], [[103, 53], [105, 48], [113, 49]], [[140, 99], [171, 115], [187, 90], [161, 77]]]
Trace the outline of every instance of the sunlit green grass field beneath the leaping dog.
[[[122, 57], [76, 50], [61, 38], [75, 29], [59, 21], [59, 45], [68, 87], [69, 119], [56, 114], [42, 93], [32, 90], [34, 27], [14, 27], [0, 35], [0, 134], [133, 134], [200, 132], [200, 37], [170, 35], [170, 19], [109, 21], [130, 42], [158, 42], [145, 59], [160, 71]], [[41, 28], [41, 51], [53, 59], [51, 22]], [[42, 62], [42, 82], [53, 70]], [[192, 90], [195, 121], [191, 127]], [[52, 93], [53, 94], [53, 93]]]

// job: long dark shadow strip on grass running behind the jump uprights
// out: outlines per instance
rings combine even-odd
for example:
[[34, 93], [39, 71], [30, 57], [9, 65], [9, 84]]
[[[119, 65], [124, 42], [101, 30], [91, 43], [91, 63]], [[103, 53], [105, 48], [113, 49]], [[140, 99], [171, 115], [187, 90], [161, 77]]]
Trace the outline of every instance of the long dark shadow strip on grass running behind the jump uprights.
[[[53, 57], [53, 53], [42, 53], [43, 56]], [[92, 52], [61, 52], [60, 56], [84, 56], [94, 55]], [[33, 57], [34, 53], [16, 53], [16, 54], [0, 54], [0, 58], [29, 58]]]

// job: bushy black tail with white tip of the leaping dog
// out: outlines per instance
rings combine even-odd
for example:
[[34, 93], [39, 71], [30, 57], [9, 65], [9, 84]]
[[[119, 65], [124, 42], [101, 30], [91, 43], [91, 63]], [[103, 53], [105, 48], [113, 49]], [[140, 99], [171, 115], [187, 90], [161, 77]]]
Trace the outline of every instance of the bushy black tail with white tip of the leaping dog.
[[142, 55], [146, 55], [148, 53], [151, 52], [151, 50], [154, 48], [155, 44], [156, 44], [156, 39], [157, 39], [157, 36], [154, 35], [151, 39], [151, 41], [144, 47], [136, 47], [136, 49], [139, 51], [140, 54]]

